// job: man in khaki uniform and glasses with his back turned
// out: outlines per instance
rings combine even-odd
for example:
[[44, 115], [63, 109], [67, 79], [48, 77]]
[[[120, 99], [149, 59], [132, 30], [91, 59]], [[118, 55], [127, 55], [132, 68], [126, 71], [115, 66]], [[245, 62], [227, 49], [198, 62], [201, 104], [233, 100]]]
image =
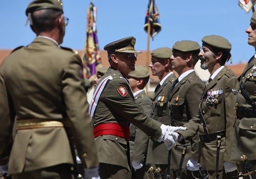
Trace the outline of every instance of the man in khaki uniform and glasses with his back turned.
[[82, 61], [60, 46], [68, 24], [63, 3], [33, 0], [26, 15], [37, 37], [0, 66], [0, 169], [8, 164], [19, 179], [76, 178], [74, 142], [84, 178], [99, 179]]

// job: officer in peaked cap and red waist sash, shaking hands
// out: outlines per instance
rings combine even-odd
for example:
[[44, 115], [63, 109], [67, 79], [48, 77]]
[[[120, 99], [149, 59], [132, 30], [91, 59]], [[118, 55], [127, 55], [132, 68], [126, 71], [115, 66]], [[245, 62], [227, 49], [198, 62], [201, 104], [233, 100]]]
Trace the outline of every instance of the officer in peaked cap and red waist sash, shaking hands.
[[[141, 129], [153, 141], [164, 141], [171, 148], [172, 127], [159, 123], [137, 107], [126, 79], [135, 70], [136, 39], [125, 37], [113, 41], [104, 50], [108, 52], [110, 68], [95, 87], [89, 113], [92, 117], [94, 138], [98, 149], [101, 179], [127, 179], [130, 169], [130, 123]], [[168, 129], [168, 131], [167, 131]], [[178, 137], [178, 136], [177, 136]]]

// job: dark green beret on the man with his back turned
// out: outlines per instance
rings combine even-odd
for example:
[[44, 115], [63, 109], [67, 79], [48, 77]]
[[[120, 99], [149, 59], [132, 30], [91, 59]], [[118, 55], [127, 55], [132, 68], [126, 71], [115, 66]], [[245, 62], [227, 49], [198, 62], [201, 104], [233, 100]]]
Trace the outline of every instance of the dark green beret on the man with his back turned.
[[33, 0], [26, 8], [26, 15], [42, 9], [54, 9], [63, 12], [63, 3], [61, 0]]

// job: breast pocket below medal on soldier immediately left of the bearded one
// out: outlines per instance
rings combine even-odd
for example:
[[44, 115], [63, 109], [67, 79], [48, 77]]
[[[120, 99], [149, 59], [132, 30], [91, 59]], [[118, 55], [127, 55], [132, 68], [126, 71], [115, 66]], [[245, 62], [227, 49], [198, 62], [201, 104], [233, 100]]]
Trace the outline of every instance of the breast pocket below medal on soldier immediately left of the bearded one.
[[175, 120], [181, 120], [183, 117], [185, 98], [183, 97], [172, 97], [170, 106], [172, 111], [172, 117]]

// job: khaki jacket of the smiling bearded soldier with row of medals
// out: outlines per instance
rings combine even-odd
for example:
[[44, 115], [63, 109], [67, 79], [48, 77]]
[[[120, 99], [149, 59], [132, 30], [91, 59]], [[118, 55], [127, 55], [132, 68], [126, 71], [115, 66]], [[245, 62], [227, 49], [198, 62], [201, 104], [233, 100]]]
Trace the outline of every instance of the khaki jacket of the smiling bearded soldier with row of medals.
[[[228, 70], [227, 67], [221, 69], [212, 81], [205, 87], [202, 97], [202, 113], [205, 123], [209, 130], [209, 133], [216, 133], [217, 131], [226, 130], [226, 137], [221, 138], [221, 146], [219, 152], [219, 170], [223, 169], [224, 160], [230, 161], [231, 148], [234, 136], [234, 107], [235, 107], [235, 95], [232, 93], [232, 89], [236, 86], [237, 77], [232, 70]], [[207, 104], [207, 97], [209, 96], [209, 90], [215, 92], [218, 88], [222, 88], [222, 95], [217, 103]], [[199, 116], [189, 120], [184, 125], [188, 127], [186, 131], [178, 131], [184, 138], [189, 139], [199, 133], [204, 134], [203, 123], [201, 123]], [[210, 143], [201, 142], [201, 156], [200, 163], [204, 170], [215, 171], [216, 161], [216, 140]], [[227, 146], [227, 148], [225, 148]], [[193, 158], [194, 159], [194, 158]], [[194, 159], [198, 160], [198, 159]]]

